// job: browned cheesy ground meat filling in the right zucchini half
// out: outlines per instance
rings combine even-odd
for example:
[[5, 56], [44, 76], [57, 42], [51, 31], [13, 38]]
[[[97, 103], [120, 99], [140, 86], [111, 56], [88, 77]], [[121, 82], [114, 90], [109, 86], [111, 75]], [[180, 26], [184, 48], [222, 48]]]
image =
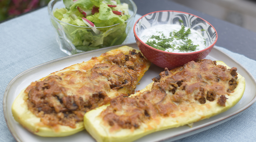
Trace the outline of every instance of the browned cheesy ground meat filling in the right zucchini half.
[[113, 99], [101, 116], [113, 129], [137, 129], [156, 116], [175, 117], [173, 112], [186, 111], [188, 103], [217, 101], [225, 106], [226, 95], [237, 86], [236, 70], [207, 59], [191, 61], [170, 71], [166, 68], [152, 79], [151, 91]]

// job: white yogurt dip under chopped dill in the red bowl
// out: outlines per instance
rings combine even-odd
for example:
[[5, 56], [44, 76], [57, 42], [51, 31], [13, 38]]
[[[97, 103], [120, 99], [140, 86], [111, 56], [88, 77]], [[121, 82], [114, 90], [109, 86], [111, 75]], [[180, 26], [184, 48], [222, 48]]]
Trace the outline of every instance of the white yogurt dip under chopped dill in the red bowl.
[[[154, 36], [160, 36], [160, 38], [171, 38], [174, 36], [174, 32], [178, 32], [181, 30], [181, 25], [178, 24], [162, 24], [162, 25], [157, 25], [157, 26], [152, 26], [151, 28], [145, 29], [142, 31], [140, 35], [140, 39], [146, 43], [147, 41], [153, 41], [155, 40], [156, 43], [160, 42], [155, 38], [150, 38], [153, 35]], [[185, 32], [188, 30], [187, 27], [185, 27]], [[205, 39], [202, 36], [201, 31], [196, 31], [194, 29], [190, 29], [191, 34], [187, 35], [187, 39], [191, 39], [193, 45], [198, 45], [195, 49], [195, 51], [181, 51], [178, 47], [179, 45], [183, 45], [184, 41], [186, 43], [186, 40], [182, 39], [176, 39], [175, 37], [173, 38], [173, 41], [168, 42], [170, 45], [174, 46], [173, 48], [167, 48], [165, 51], [167, 52], [172, 52], [172, 53], [190, 53], [190, 52], [196, 52], [203, 50], [207, 48], [205, 45]], [[170, 33], [172, 32], [172, 35], [170, 36]]]

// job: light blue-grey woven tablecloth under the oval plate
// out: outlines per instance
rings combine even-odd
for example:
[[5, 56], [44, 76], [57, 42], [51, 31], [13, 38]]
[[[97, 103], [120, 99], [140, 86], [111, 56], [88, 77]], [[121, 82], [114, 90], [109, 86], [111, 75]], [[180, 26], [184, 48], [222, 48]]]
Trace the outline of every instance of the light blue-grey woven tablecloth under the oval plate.
[[[136, 15], [136, 20], [140, 15]], [[133, 32], [128, 43], [135, 42]], [[256, 77], [256, 61], [219, 47], [238, 60]], [[241, 47], [242, 48], [242, 47]], [[47, 7], [0, 24], [0, 101], [8, 83], [19, 73], [67, 56], [60, 51], [55, 32], [50, 24]], [[206, 131], [177, 141], [256, 141], [256, 105], [239, 116]], [[11, 135], [0, 104], [0, 141], [15, 141]]]

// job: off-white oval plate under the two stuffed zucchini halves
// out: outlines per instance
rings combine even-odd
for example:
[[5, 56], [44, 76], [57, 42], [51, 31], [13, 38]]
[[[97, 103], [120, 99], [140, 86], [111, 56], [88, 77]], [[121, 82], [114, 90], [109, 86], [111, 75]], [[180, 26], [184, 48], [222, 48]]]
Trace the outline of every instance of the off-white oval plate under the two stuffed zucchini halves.
[[[61, 70], [72, 64], [77, 64], [82, 61], [88, 61], [95, 56], [98, 57], [101, 55], [101, 53], [105, 53], [106, 51], [118, 48], [120, 46], [123, 46], [123, 45], [107, 47], [107, 48], [98, 49], [94, 51], [88, 51], [88, 52], [79, 53], [76, 55], [71, 55], [71, 56], [60, 58], [60, 59], [52, 60], [44, 64], [35, 66], [33, 68], [30, 68], [18, 74], [15, 78], [13, 78], [11, 82], [7, 85], [5, 90], [5, 94], [3, 98], [3, 110], [4, 110], [7, 126], [11, 131], [13, 137], [16, 139], [16, 141], [18, 142], [27, 142], [27, 141], [95, 142], [95, 140], [85, 130], [67, 137], [40, 137], [40, 136], [34, 135], [29, 131], [25, 130], [18, 122], [14, 120], [11, 112], [11, 106], [15, 98], [21, 92], [21, 90], [26, 88], [28, 85], [30, 85], [31, 82], [39, 80], [40, 78], [43, 78], [52, 72]], [[127, 46], [139, 49], [136, 43], [127, 44]], [[246, 82], [245, 92], [243, 94], [242, 99], [234, 107], [230, 108], [226, 112], [213, 116], [209, 119], [204, 119], [199, 122], [195, 122], [192, 128], [186, 125], [178, 128], [158, 131], [150, 135], [147, 135], [145, 137], [142, 137], [136, 140], [136, 142], [174, 141], [176, 139], [181, 139], [183, 137], [187, 137], [189, 135], [199, 133], [201, 131], [204, 131], [216, 125], [219, 125], [223, 122], [226, 122], [231, 118], [234, 118], [235, 116], [243, 112], [245, 109], [247, 109], [256, 101], [256, 81], [253, 78], [253, 76], [240, 63], [238, 63], [232, 57], [230, 57], [229, 55], [227, 55], [226, 53], [220, 51], [215, 47], [212, 49], [212, 51], [206, 58], [211, 60], [221, 60], [230, 67], [235, 66], [238, 68], [237, 72], [245, 78], [245, 82]], [[151, 79], [158, 76], [159, 73], [162, 72], [163, 70], [164, 70], [163, 68], [160, 68], [152, 64], [149, 70], [145, 73], [143, 78], [140, 80], [139, 84], [136, 87], [136, 90], [141, 90], [144, 87], [146, 87], [148, 83], [152, 82]]]

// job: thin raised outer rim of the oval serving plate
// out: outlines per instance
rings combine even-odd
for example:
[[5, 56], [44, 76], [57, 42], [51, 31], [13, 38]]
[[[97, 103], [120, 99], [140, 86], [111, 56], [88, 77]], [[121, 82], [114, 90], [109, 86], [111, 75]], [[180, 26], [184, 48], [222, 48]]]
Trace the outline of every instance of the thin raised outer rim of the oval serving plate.
[[[68, 58], [71, 58], [71, 57], [75, 57], [75, 56], [79, 56], [79, 55], [83, 55], [83, 54], [89, 54], [89, 53], [92, 53], [92, 52], [96, 52], [96, 51], [102, 51], [102, 50], [107, 50], [107, 49], [111, 49], [111, 48], [118, 48], [118, 47], [121, 47], [121, 46], [137, 46], [136, 43], [129, 43], [129, 44], [123, 44], [123, 45], [116, 45], [116, 46], [110, 46], [110, 47], [106, 47], [106, 48], [101, 48], [101, 49], [96, 49], [96, 50], [92, 50], [92, 51], [87, 51], [87, 52], [83, 52], [83, 53], [78, 53], [78, 54], [75, 54], [75, 55], [70, 55], [70, 56], [65, 56], [65, 57], [62, 57], [62, 58], [58, 58], [58, 59], [55, 59], [55, 60], [51, 60], [51, 61], [48, 61], [48, 62], [45, 62], [45, 63], [42, 63], [42, 64], [39, 64], [37, 66], [34, 66], [32, 68], [29, 68], [23, 72], [21, 72], [20, 74], [18, 74], [17, 76], [15, 76], [7, 85], [6, 89], [5, 89], [5, 93], [4, 93], [4, 96], [3, 96], [3, 112], [4, 112], [4, 117], [5, 117], [5, 122], [7, 124], [7, 127], [9, 129], [9, 131], [11, 132], [11, 134], [13, 135], [13, 137], [15, 138], [16, 141], [18, 142], [23, 142], [20, 137], [16, 134], [14, 134], [13, 130], [10, 128], [10, 124], [9, 124], [9, 121], [7, 120], [7, 94], [8, 94], [8, 91], [11, 87], [11, 85], [17, 80], [17, 78], [19, 78], [20, 76], [22, 76], [23, 74], [25, 74], [26, 72], [29, 72], [31, 70], [34, 70], [36, 68], [39, 68], [41, 66], [44, 66], [46, 64], [50, 64], [52, 62], [57, 62], [57, 61], [60, 61], [60, 60], [63, 60], [63, 59], [68, 59]], [[234, 62], [236, 62], [237, 64], [239, 64], [245, 71], [246, 73], [249, 75], [249, 77], [252, 79], [252, 81], [254, 82], [254, 85], [256, 85], [256, 80], [255, 78], [252, 76], [252, 74], [242, 65], [240, 64], [240, 62], [238, 62], [236, 59], [234, 59], [233, 57], [231, 57], [230, 55], [228, 55], [227, 53], [225, 53], [224, 51], [222, 51], [221, 49], [218, 49], [217, 46], [214, 46], [213, 49], [217, 50], [218, 52], [221, 52], [222, 54], [226, 55], [227, 57], [229, 57], [231, 60], [233, 60]], [[166, 137], [164, 139], [161, 139], [161, 140], [157, 140], [156, 142], [160, 142], [160, 141], [166, 141], [166, 140], [170, 140], [172, 138], [175, 138], [175, 137], [179, 137], [181, 135], [184, 135], [184, 134], [189, 134], [195, 130], [200, 130], [200, 129], [203, 129], [207, 126], [210, 126], [210, 125], [214, 125], [218, 122], [222, 122], [224, 120], [228, 121], [229, 119], [228, 118], [233, 118], [235, 116], [237, 116], [238, 114], [242, 113], [244, 110], [246, 110], [247, 108], [249, 108], [251, 105], [253, 105], [254, 103], [256, 102], [256, 95], [255, 97], [247, 104], [245, 105], [244, 107], [236, 110], [235, 112], [233, 112], [232, 114], [229, 114], [227, 116], [223, 116], [221, 118], [218, 118], [218, 119], [215, 119], [211, 122], [207, 122], [203, 125], [199, 125], [199, 126], [196, 126], [196, 127], [193, 127], [193, 128], [190, 128], [188, 130], [185, 130], [177, 135], [173, 135], [173, 136], [170, 136], [170, 137]], [[224, 121], [224, 122], [226, 122]], [[224, 123], [223, 122], [223, 123]], [[221, 123], [220, 123], [221, 124]], [[218, 125], [218, 124], [216, 124]], [[215, 126], [216, 126], [215, 125]], [[214, 126], [213, 126], [214, 127]], [[190, 135], [193, 135], [190, 134]], [[187, 135], [189, 136], [189, 135]]]

